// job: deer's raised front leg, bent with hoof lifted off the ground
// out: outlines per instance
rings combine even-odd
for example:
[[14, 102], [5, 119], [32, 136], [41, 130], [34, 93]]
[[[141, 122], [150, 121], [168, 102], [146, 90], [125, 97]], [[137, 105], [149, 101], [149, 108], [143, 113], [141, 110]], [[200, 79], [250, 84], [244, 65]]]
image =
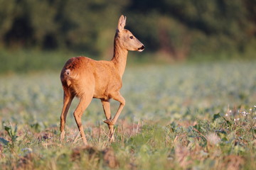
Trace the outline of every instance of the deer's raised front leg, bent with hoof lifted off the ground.
[[122, 109], [124, 108], [124, 105], [125, 105], [125, 100], [124, 98], [121, 96], [121, 94], [119, 93], [119, 91], [117, 92], [117, 94], [115, 94], [113, 96], [113, 99], [115, 101], [119, 101], [120, 105], [119, 105], [119, 108], [117, 110], [117, 113], [114, 115], [114, 118], [113, 119], [110, 119], [110, 120], [105, 120], [104, 123], [107, 123], [107, 125], [114, 125], [116, 122], [117, 122], [117, 119], [122, 111]]

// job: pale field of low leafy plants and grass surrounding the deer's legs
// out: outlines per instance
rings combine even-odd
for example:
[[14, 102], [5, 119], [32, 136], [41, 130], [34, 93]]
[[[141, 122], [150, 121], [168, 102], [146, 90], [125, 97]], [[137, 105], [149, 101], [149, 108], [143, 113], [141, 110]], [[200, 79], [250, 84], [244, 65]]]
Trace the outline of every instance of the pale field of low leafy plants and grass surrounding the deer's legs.
[[1, 75], [1, 169], [256, 169], [254, 63], [128, 67], [116, 140], [93, 100], [82, 117], [90, 147], [73, 118], [78, 100], [60, 143], [58, 72]]

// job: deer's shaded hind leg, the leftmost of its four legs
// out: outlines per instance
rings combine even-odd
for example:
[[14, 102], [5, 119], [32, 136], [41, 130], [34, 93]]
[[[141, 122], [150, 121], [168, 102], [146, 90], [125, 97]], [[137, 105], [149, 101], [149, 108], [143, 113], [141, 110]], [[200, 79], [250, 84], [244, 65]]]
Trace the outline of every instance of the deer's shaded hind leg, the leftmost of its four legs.
[[60, 140], [63, 141], [65, 137], [65, 122], [68, 114], [68, 109], [70, 108], [71, 102], [73, 101], [74, 96], [69, 94], [68, 91], [64, 91], [63, 95], [63, 110], [60, 115]]

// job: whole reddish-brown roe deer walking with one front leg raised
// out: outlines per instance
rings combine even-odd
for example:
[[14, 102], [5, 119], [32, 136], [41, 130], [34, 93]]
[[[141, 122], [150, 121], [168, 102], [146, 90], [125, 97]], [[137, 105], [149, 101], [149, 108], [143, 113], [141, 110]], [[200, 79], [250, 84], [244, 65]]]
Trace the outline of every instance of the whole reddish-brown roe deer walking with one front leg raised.
[[[82, 128], [82, 113], [89, 106], [92, 98], [100, 98], [106, 116], [104, 123], [110, 129], [110, 140], [114, 140], [114, 123], [117, 122], [122, 109], [124, 98], [119, 90], [122, 87], [122, 75], [127, 62], [128, 50], [142, 52], [144, 45], [124, 29], [126, 17], [119, 18], [117, 31], [114, 35], [114, 55], [111, 61], [95, 61], [87, 57], [73, 57], [68, 60], [60, 74], [63, 85], [63, 110], [60, 115], [60, 140], [65, 137], [65, 119], [70, 104], [75, 96], [80, 102], [73, 113], [78, 125], [82, 142], [87, 145], [85, 132]], [[119, 101], [117, 113], [112, 118], [110, 113], [110, 98]]]

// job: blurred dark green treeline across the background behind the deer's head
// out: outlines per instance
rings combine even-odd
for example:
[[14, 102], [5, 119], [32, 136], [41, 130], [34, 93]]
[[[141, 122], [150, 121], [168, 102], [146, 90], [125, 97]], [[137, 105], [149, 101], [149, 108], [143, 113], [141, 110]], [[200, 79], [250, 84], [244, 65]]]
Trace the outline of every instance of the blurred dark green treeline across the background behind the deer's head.
[[256, 57], [255, 0], [0, 0], [0, 49], [105, 57], [121, 14], [152, 57]]

